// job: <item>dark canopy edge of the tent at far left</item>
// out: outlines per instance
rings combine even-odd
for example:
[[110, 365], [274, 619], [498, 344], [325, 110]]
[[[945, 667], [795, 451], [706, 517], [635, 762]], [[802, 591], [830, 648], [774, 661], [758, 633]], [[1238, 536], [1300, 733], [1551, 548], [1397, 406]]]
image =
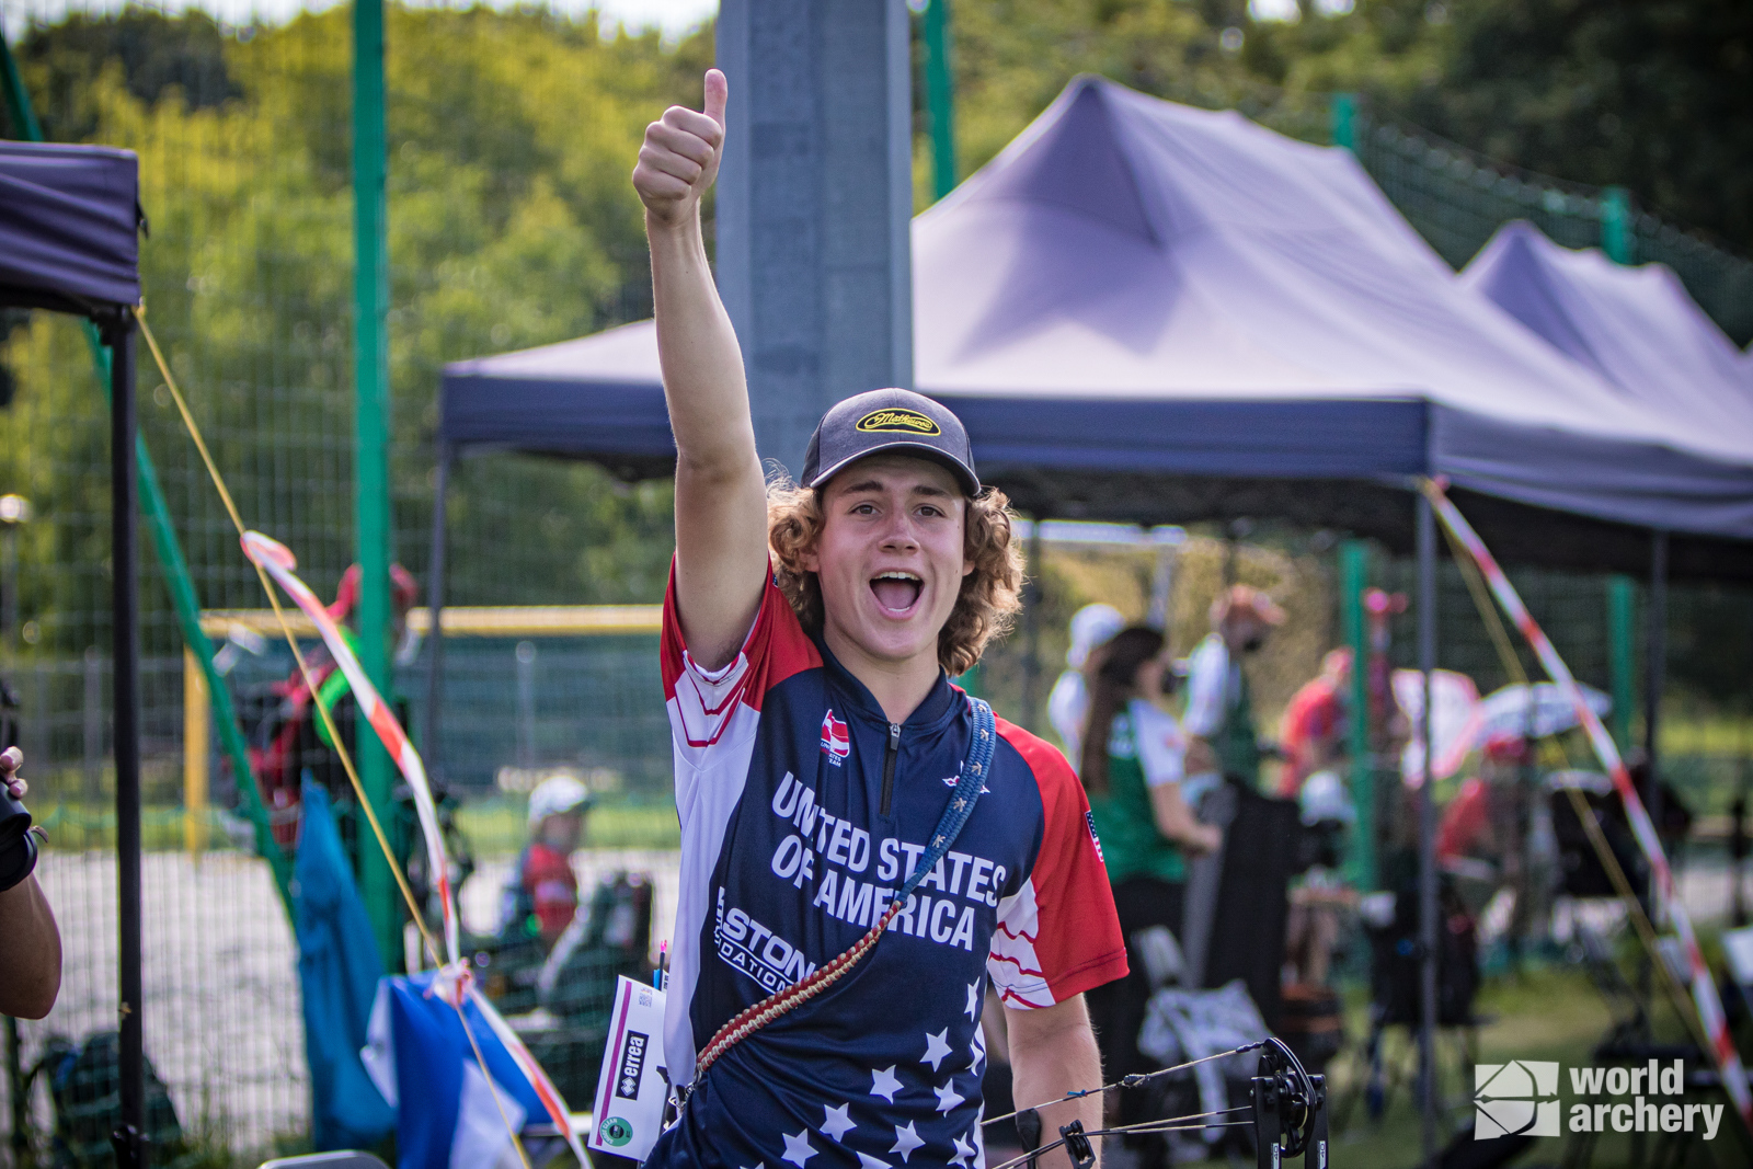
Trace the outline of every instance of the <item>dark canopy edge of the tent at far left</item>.
[[140, 163], [105, 145], [0, 142], [0, 300], [140, 303]]

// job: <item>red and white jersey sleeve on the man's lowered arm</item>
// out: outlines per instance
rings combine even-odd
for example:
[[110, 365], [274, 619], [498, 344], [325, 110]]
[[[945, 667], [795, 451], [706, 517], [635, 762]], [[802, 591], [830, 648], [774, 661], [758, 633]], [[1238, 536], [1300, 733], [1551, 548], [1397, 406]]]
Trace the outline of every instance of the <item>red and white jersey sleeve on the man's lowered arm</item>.
[[1041, 790], [1041, 848], [999, 913], [992, 983], [1006, 1006], [1052, 1006], [1125, 978], [1125, 939], [1083, 785], [1054, 747], [999, 719]]

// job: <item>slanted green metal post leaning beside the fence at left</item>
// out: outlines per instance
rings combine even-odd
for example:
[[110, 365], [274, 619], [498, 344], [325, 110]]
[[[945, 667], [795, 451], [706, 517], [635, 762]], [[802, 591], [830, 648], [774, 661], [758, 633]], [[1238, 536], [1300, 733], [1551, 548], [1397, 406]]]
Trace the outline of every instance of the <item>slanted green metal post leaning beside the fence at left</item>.
[[[30, 93], [25, 89], [25, 79], [19, 75], [18, 63], [12, 60], [12, 49], [7, 46], [4, 33], [0, 33], [0, 74], [4, 74], [0, 82], [5, 88], [7, 114], [12, 126], [23, 128], [26, 140], [42, 142], [42, 124], [37, 121], [35, 109], [32, 109]], [[84, 322], [84, 331], [86, 342], [91, 345], [91, 361], [98, 375], [98, 386], [102, 386], [103, 398], [109, 401], [109, 347], [103, 345], [96, 326], [89, 321]], [[287, 894], [291, 862], [275, 843], [273, 832], [268, 827], [268, 810], [261, 801], [256, 768], [251, 766], [249, 747], [244, 743], [244, 731], [238, 727], [237, 710], [231, 706], [231, 691], [226, 689], [224, 677], [214, 668], [214, 647], [202, 631], [202, 605], [195, 592], [195, 580], [189, 577], [189, 564], [182, 557], [182, 543], [177, 540], [177, 528], [170, 519], [170, 505], [165, 501], [165, 491], [158, 484], [158, 468], [145, 449], [144, 435], [135, 435], [135, 463], [138, 464], [140, 510], [145, 515], [147, 529], [153, 533], [153, 550], [158, 554], [158, 566], [165, 573], [165, 587], [170, 592], [170, 605], [177, 615], [177, 627], [182, 633], [182, 641], [195, 654], [195, 659], [202, 664], [202, 671], [207, 675], [207, 694], [212, 701], [214, 722], [219, 724], [219, 743], [231, 761], [233, 775], [238, 776], [237, 789], [244, 801], [244, 815], [256, 829], [256, 852], [266, 859], [273, 873], [273, 885], [280, 892], [280, 903], [291, 908]]]

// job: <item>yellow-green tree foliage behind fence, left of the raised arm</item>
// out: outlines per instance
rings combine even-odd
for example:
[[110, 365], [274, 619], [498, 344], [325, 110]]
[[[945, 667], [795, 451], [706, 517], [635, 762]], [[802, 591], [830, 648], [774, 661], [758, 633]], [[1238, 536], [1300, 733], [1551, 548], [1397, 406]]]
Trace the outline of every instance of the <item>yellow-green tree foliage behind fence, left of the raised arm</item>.
[[[540, 11], [391, 9], [389, 259], [398, 559], [424, 566], [436, 389], [447, 361], [540, 345], [649, 312], [628, 174], [654, 110], [698, 89], [710, 35], [601, 35]], [[345, 9], [279, 28], [130, 9], [19, 46], [49, 133], [140, 154], [147, 322], [247, 522], [319, 589], [352, 559], [351, 28]], [[77, 326], [32, 314], [5, 365], [0, 482], [30, 494], [23, 612], [39, 652], [105, 640], [100, 386]], [[259, 591], [168, 393], [140, 352], [142, 426], [209, 606]], [[596, 468], [466, 461], [452, 485], [459, 603], [661, 596], [661, 484]], [[147, 571], [156, 580], [154, 571]], [[149, 650], [175, 634], [147, 598]]]

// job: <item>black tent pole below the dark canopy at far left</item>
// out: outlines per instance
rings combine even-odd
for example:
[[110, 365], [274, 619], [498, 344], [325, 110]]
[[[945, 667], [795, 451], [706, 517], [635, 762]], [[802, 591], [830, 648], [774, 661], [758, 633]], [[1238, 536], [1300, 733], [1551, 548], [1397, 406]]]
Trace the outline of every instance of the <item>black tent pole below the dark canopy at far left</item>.
[[117, 1169], [145, 1165], [145, 1046], [140, 994], [140, 589], [133, 312], [102, 322], [110, 349], [110, 640], [114, 657], [116, 892], [119, 920], [121, 1118]]

